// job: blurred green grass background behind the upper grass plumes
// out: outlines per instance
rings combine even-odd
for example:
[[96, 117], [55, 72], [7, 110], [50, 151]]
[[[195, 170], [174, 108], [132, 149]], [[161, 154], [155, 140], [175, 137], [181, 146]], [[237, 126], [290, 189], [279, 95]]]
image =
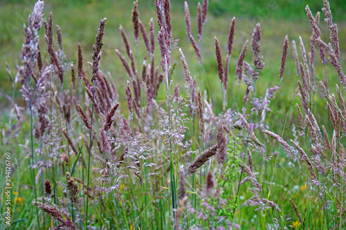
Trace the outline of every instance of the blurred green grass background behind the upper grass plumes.
[[[185, 21], [183, 19], [184, 9], [183, 0], [172, 0], [172, 25], [173, 37], [179, 39], [178, 46], [182, 48], [188, 57], [188, 64], [192, 75], [197, 75], [197, 81], [201, 88], [207, 88], [206, 82], [212, 92], [218, 92], [219, 80], [217, 77], [217, 65], [215, 60], [214, 37], [217, 36], [221, 44], [223, 58], [226, 57], [228, 30], [230, 20], [237, 18], [235, 30], [235, 44], [230, 64], [230, 82], [233, 82], [235, 65], [239, 57], [239, 52], [246, 39], [251, 41], [251, 34], [255, 24], [261, 23], [262, 39], [261, 39], [261, 55], [264, 56], [266, 66], [260, 73], [260, 79], [257, 83], [257, 92], [264, 93], [268, 86], [278, 85], [280, 79], [278, 77], [280, 70], [280, 58], [282, 52], [282, 43], [285, 35], [289, 36], [289, 56], [286, 63], [284, 80], [282, 82], [282, 90], [280, 96], [284, 101], [291, 99], [291, 94], [297, 86], [298, 77], [295, 75], [295, 64], [293, 61], [291, 41], [294, 39], [299, 44], [299, 36], [304, 40], [305, 48], [309, 52], [309, 37], [311, 35], [311, 27], [309, 20], [305, 15], [305, 6], [309, 4], [313, 14], [316, 14], [323, 6], [322, 0], [318, 1], [275, 1], [275, 0], [248, 0], [248, 1], [229, 1], [229, 0], [210, 0], [208, 22], [205, 27], [205, 35], [202, 46], [203, 64], [206, 69], [207, 77], [201, 74], [201, 68], [194, 58], [194, 50], [189, 46], [185, 32]], [[197, 0], [188, 1], [190, 6], [190, 14], [192, 20], [192, 33], [197, 39]], [[21, 44], [24, 40], [23, 24], [26, 23], [28, 14], [32, 11], [35, 1], [33, 0], [14, 0], [0, 1], [0, 88], [4, 93], [12, 95], [12, 86], [8, 81], [6, 73], [5, 61], [10, 65], [12, 75], [16, 75], [16, 63], [20, 63]], [[148, 30], [147, 23], [153, 17], [155, 19], [155, 30], [158, 31], [156, 23], [156, 11], [154, 8], [154, 0], [139, 0], [140, 19]], [[331, 10], [334, 21], [338, 23], [339, 39], [341, 48], [341, 61], [345, 66], [346, 50], [346, 1], [331, 0]], [[136, 50], [133, 37], [133, 26], [131, 23], [131, 10], [133, 1], [117, 0], [117, 1], [69, 1], [69, 0], [50, 0], [45, 1], [44, 13], [47, 18], [50, 12], [53, 12], [55, 25], [62, 28], [64, 52], [69, 61], [75, 63], [77, 59], [78, 42], [82, 44], [84, 51], [84, 69], [86, 73], [90, 72], [86, 61], [91, 61], [92, 44], [95, 42], [95, 34], [97, 32], [100, 19], [107, 17], [106, 33], [104, 37], [104, 48], [102, 48], [101, 69], [107, 73], [109, 71], [114, 79], [116, 79], [118, 90], [122, 93], [125, 87], [125, 80], [128, 79], [125, 70], [114, 52], [118, 48], [125, 53], [125, 47], [118, 27], [120, 24], [125, 28], [129, 37], [133, 50]], [[320, 10], [321, 11], [321, 10]], [[321, 31], [322, 38], [328, 41], [329, 30], [322, 21], [324, 14], [321, 12]], [[41, 50], [43, 57], [47, 57], [46, 44], [44, 41], [44, 30], [39, 33]], [[56, 46], [57, 50], [57, 46]], [[298, 48], [299, 51], [299, 48]], [[134, 51], [136, 52], [136, 51]], [[140, 37], [139, 57], [145, 53], [143, 39]], [[300, 53], [300, 52], [298, 52]], [[318, 56], [318, 55], [317, 55]], [[158, 48], [156, 46], [156, 64], [158, 64]], [[183, 71], [181, 61], [179, 59], [179, 51], [172, 50], [173, 61], [176, 63], [174, 84], [181, 83], [183, 87]], [[251, 62], [251, 49], [248, 48], [246, 61]], [[140, 61], [141, 62], [141, 61]], [[140, 66], [141, 68], [141, 66]], [[316, 57], [316, 79], [322, 79], [322, 68], [320, 57]], [[70, 73], [66, 73], [66, 77], [70, 77]], [[338, 79], [333, 71], [330, 75], [331, 81]], [[206, 80], [207, 79], [207, 80]], [[230, 83], [231, 85], [232, 83]], [[18, 103], [20, 100], [19, 84], [15, 93], [15, 99]], [[164, 87], [161, 88], [164, 90]], [[120, 94], [121, 95], [121, 94]], [[242, 94], [241, 94], [242, 95]], [[221, 99], [220, 95], [215, 95], [215, 101]], [[1, 106], [8, 106], [8, 101], [4, 97], [0, 97]]]

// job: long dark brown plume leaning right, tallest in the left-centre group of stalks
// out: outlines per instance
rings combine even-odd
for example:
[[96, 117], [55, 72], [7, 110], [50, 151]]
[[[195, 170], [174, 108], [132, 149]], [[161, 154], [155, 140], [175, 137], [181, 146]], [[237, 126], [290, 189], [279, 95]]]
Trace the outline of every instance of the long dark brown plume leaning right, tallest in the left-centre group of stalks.
[[92, 68], [92, 76], [91, 82], [95, 84], [96, 79], [98, 77], [98, 68], [100, 67], [100, 59], [101, 59], [101, 48], [103, 46], [102, 39], [104, 36], [104, 26], [106, 26], [107, 19], [104, 18], [100, 21], [100, 26], [98, 27], [98, 35], [96, 35], [95, 44], [93, 44], [93, 68]]

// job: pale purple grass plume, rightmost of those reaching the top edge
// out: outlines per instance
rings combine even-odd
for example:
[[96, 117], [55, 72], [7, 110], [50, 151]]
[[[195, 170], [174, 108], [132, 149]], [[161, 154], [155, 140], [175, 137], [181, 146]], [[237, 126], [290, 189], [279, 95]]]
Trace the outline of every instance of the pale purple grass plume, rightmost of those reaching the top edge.
[[325, 13], [325, 16], [326, 16], [325, 23], [327, 23], [327, 26], [330, 31], [329, 37], [331, 40], [331, 44], [333, 44], [334, 46], [336, 59], [339, 59], [340, 48], [339, 48], [339, 39], [338, 39], [338, 26], [336, 25], [336, 23], [333, 23], [333, 17], [331, 17], [329, 1], [323, 0], [323, 6], [325, 7], [322, 8], [322, 11]]

